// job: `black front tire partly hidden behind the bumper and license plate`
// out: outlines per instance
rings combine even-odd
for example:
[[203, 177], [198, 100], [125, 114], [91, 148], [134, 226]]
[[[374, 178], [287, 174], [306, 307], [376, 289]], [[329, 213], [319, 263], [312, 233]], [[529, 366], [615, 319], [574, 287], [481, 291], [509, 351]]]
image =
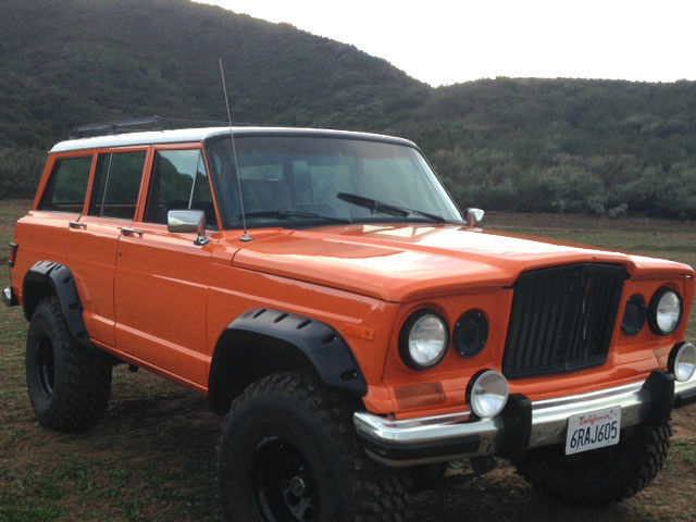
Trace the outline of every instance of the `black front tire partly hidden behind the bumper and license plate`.
[[538, 492], [571, 506], [619, 502], [647, 487], [662, 469], [672, 426], [639, 425], [626, 432], [616, 446], [574, 456], [558, 446], [532, 450], [518, 471]]

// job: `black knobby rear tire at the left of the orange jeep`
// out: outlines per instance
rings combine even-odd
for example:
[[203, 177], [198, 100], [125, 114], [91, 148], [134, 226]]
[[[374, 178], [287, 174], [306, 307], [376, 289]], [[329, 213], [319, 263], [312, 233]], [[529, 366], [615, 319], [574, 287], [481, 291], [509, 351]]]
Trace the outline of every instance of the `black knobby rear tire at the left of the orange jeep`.
[[72, 339], [54, 296], [34, 311], [25, 368], [29, 399], [44, 427], [82, 431], [103, 417], [111, 394], [111, 361]]

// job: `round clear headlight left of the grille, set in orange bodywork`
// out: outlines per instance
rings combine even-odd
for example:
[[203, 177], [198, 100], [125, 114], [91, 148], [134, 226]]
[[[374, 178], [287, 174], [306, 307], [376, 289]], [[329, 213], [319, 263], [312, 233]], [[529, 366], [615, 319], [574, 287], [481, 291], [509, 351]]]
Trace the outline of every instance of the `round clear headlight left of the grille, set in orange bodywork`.
[[432, 310], [411, 314], [399, 335], [399, 352], [407, 366], [428, 370], [447, 353], [449, 330], [445, 320]]

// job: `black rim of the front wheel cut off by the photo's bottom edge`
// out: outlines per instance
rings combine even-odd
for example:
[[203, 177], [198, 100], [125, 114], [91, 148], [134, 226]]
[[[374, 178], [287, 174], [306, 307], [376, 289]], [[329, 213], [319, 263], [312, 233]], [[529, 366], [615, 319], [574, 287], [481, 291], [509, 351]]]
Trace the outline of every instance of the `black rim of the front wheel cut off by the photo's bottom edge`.
[[300, 450], [279, 438], [257, 447], [253, 498], [264, 522], [319, 520], [319, 492], [312, 470]]

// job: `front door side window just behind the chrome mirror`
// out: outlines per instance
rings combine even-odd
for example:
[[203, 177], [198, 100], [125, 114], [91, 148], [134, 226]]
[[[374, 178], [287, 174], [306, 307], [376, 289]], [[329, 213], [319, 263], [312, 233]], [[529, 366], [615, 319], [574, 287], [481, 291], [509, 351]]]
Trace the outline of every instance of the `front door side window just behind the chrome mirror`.
[[202, 210], [216, 228], [215, 208], [200, 150], [162, 150], [154, 157], [145, 221], [166, 224], [170, 210]]

